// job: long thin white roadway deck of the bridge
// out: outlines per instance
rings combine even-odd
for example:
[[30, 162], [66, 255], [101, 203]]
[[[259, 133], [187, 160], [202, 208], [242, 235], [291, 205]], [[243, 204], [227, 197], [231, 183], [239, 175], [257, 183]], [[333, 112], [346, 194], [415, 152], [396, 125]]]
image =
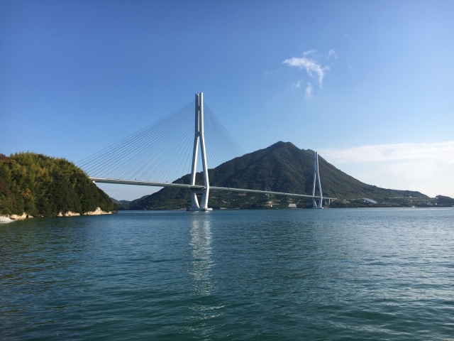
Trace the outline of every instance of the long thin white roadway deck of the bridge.
[[[173, 188], [186, 188], [188, 190], [204, 190], [204, 188], [205, 188], [205, 186], [202, 186], [202, 185], [187, 185], [184, 183], [153, 183], [151, 181], [121, 180], [121, 179], [108, 179], [108, 178], [89, 178], [89, 179], [94, 181], [95, 183], [118, 183], [118, 184], [122, 184], [122, 185], [173, 187]], [[310, 197], [310, 198], [314, 198], [314, 199], [320, 199], [320, 196], [316, 196], [316, 195], [272, 192], [271, 190], [245, 190], [243, 188], [229, 188], [229, 187], [216, 187], [216, 186], [210, 186], [210, 190], [227, 190], [227, 191], [231, 191], [231, 192], [287, 195], [289, 197]], [[330, 202], [331, 202], [331, 200], [336, 200], [336, 197], [323, 197], [323, 199], [330, 200]]]

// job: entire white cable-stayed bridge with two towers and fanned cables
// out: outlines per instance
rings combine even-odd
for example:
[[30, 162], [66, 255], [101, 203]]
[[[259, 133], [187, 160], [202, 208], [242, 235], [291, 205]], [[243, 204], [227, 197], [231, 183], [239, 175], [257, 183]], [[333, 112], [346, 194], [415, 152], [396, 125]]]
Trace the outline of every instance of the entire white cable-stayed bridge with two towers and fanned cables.
[[[194, 102], [77, 165], [96, 183], [185, 188], [192, 203], [188, 210], [193, 211], [212, 210], [208, 207], [211, 190], [306, 197], [312, 200], [314, 208], [323, 208], [323, 199], [328, 205], [336, 199], [323, 197], [317, 152], [314, 152], [312, 195], [210, 185], [209, 165], [214, 168], [243, 154], [243, 149], [204, 103], [201, 92], [196, 94]], [[188, 173], [189, 183], [176, 183], [175, 179]], [[203, 175], [203, 182], [196, 181], [197, 173]], [[197, 194], [201, 194], [200, 202]]]

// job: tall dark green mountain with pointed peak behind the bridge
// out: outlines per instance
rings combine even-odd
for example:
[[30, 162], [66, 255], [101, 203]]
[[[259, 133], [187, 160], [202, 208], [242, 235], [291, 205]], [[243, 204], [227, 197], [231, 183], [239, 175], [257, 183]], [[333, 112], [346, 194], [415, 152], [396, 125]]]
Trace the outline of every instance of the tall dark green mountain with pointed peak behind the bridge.
[[[360, 198], [390, 200], [393, 197], [428, 198], [410, 190], [390, 190], [367, 185], [356, 180], [319, 156], [321, 188], [324, 197], [337, 197], [333, 206], [365, 206]], [[211, 186], [272, 190], [275, 192], [311, 194], [314, 177], [314, 151], [299, 149], [289, 142], [279, 141], [272, 146], [248, 153], [220, 166], [209, 169]], [[196, 176], [203, 183], [201, 173]], [[174, 181], [189, 183], [189, 175]], [[350, 205], [343, 203], [350, 200]], [[351, 200], [359, 200], [352, 203]], [[310, 200], [295, 200], [294, 197], [269, 196], [255, 193], [225, 192], [211, 190], [209, 207], [213, 208], [265, 208], [288, 207], [289, 202], [298, 202], [298, 207], [310, 207]], [[163, 188], [157, 193], [133, 200], [120, 209], [162, 210], [190, 207], [189, 190]], [[401, 204], [399, 204], [401, 205]], [[406, 203], [406, 205], [410, 205]]]

